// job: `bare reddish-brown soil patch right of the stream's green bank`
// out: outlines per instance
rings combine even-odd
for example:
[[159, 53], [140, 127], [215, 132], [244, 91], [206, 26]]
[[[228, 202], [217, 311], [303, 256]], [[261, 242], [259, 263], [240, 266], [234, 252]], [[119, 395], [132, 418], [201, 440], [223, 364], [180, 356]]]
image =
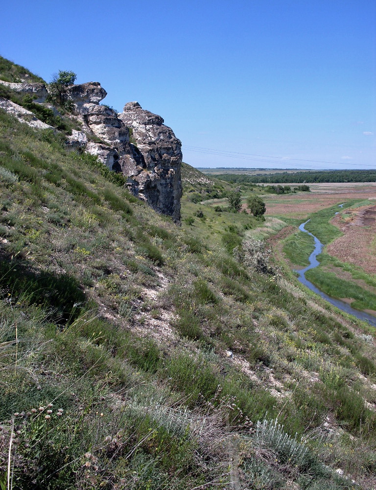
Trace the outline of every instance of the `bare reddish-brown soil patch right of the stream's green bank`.
[[369, 274], [376, 274], [376, 256], [372, 249], [376, 236], [376, 205], [338, 214], [330, 222], [343, 235], [327, 245], [327, 252], [342, 262], [350, 262]]

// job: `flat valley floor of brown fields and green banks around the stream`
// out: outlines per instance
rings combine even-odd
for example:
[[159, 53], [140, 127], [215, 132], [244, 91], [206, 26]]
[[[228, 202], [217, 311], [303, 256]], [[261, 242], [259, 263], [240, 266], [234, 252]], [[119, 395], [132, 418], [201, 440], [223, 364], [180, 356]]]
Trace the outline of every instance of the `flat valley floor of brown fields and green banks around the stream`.
[[[310, 184], [311, 192], [265, 196], [266, 213], [306, 225], [326, 245], [320, 266], [309, 280], [325, 293], [347, 300], [354, 308], [376, 310], [376, 184]], [[343, 208], [337, 207], [344, 204]], [[331, 209], [329, 209], [331, 208]], [[335, 211], [338, 211], [333, 217]], [[308, 265], [313, 240], [295, 228], [273, 241], [278, 256], [283, 248], [290, 267]]]

